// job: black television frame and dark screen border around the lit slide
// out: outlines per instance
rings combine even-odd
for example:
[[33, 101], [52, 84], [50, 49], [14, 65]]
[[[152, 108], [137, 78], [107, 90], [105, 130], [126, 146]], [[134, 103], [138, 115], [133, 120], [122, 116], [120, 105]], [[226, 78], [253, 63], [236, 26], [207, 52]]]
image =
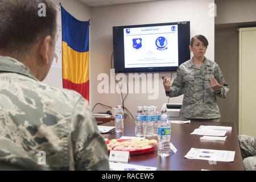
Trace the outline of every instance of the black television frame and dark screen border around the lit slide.
[[[178, 51], [179, 65], [191, 58], [190, 44], [190, 22], [168, 22], [168, 23], [152, 23], [152, 24], [137, 24], [130, 26], [115, 26], [113, 27], [113, 52], [114, 52], [114, 69], [115, 73], [136, 73], [136, 72], [168, 72], [176, 71], [179, 67], [146, 67], [146, 68], [125, 68], [125, 52], [123, 43], [123, 29], [136, 27], [154, 27], [166, 25], [178, 25]], [[118, 60], [121, 57], [121, 61]]]

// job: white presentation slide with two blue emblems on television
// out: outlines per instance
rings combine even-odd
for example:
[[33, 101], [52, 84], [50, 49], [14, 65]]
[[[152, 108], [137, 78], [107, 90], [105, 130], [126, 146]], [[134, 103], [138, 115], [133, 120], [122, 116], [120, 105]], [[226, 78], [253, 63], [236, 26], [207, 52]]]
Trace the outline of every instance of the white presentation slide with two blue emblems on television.
[[124, 28], [125, 68], [177, 67], [178, 26]]

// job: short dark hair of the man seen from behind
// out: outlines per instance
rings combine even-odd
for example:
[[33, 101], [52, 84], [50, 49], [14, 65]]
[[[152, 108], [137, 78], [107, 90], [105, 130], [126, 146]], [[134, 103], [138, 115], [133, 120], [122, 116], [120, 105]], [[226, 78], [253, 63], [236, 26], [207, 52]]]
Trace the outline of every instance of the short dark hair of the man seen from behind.
[[[46, 16], [38, 14], [40, 3]], [[56, 16], [51, 0], [0, 0], [0, 49], [22, 53], [47, 35], [54, 39]]]

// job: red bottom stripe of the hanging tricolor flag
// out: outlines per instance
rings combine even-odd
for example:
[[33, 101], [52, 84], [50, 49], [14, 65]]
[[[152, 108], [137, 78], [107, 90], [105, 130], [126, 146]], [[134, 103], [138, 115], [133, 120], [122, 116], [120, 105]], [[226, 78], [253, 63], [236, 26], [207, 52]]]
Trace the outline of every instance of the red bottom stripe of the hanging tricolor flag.
[[89, 80], [82, 84], [75, 84], [72, 81], [63, 79], [63, 88], [75, 90], [89, 101]]

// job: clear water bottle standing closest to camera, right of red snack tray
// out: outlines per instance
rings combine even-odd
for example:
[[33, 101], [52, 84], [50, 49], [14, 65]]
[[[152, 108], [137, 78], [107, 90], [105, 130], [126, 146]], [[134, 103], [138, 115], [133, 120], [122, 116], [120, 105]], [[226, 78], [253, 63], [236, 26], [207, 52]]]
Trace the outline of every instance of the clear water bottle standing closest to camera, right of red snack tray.
[[166, 118], [166, 113], [158, 123], [158, 155], [162, 158], [171, 154], [171, 125]]

